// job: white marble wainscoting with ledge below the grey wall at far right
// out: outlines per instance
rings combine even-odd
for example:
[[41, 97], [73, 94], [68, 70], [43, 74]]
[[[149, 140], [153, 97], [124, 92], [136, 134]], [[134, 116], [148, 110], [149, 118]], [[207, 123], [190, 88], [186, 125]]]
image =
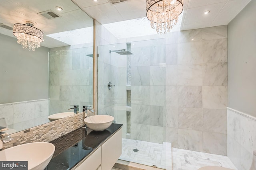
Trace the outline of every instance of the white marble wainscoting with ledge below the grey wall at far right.
[[256, 117], [235, 109], [227, 109], [228, 158], [238, 170], [248, 170], [256, 150]]

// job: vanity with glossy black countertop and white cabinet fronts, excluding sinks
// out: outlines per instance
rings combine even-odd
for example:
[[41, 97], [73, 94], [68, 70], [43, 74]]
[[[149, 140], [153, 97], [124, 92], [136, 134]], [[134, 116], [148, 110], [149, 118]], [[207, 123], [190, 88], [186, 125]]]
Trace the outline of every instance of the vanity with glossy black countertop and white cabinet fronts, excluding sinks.
[[122, 125], [100, 132], [80, 127], [50, 143], [55, 152], [45, 170], [111, 170], [122, 153]]

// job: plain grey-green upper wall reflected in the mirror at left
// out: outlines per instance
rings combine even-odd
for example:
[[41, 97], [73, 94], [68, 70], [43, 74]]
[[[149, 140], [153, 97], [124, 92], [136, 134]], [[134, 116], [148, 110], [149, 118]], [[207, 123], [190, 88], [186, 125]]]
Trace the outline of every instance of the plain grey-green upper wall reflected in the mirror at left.
[[48, 51], [28, 51], [0, 34], [0, 104], [48, 98]]

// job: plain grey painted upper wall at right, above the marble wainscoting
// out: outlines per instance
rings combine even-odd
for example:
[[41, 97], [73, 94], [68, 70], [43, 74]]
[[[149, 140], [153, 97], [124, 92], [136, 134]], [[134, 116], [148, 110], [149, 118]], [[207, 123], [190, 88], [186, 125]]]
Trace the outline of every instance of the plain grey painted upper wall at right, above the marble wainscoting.
[[256, 116], [256, 0], [228, 24], [228, 107]]

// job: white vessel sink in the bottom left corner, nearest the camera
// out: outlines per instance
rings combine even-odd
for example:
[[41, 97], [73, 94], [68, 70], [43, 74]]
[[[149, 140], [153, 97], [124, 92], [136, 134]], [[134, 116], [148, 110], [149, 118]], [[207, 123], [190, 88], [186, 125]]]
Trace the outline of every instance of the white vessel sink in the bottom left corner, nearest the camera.
[[0, 160], [28, 161], [28, 170], [43, 170], [50, 162], [54, 150], [52, 143], [27, 143], [0, 151]]

